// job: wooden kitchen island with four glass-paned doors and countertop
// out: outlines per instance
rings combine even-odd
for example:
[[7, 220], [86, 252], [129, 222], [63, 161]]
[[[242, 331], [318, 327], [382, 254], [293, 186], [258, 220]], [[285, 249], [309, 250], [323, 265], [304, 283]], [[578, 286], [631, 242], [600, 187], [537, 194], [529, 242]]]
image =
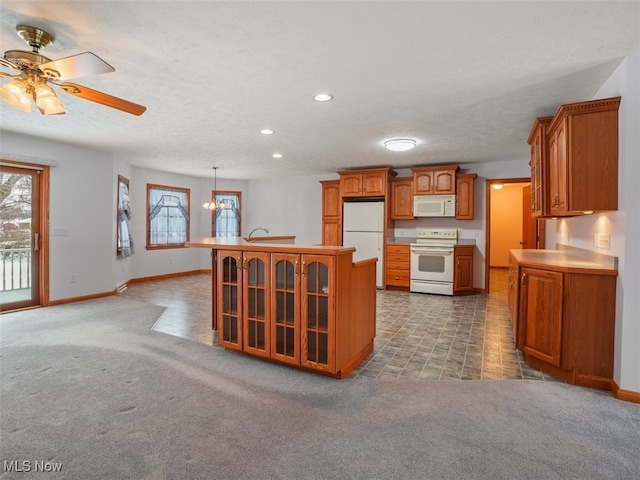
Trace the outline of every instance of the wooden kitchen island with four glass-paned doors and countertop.
[[240, 237], [187, 246], [212, 252], [212, 328], [224, 348], [336, 378], [373, 351], [375, 258]]

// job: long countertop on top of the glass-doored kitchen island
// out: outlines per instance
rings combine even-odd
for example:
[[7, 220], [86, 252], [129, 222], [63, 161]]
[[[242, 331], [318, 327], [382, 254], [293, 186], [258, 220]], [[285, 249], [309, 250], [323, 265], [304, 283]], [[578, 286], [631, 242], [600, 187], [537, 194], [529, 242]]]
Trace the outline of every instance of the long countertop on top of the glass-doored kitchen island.
[[251, 252], [307, 253], [344, 255], [355, 252], [354, 247], [334, 245], [305, 245], [300, 243], [248, 242], [242, 237], [203, 237], [186, 243], [187, 247], [210, 248], [213, 250], [238, 250]]

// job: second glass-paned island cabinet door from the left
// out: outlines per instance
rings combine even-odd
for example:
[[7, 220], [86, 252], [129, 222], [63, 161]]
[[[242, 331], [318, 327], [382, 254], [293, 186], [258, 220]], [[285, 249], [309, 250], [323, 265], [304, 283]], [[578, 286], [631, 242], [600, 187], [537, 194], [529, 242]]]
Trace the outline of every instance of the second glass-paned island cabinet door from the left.
[[269, 253], [245, 252], [244, 351], [269, 356]]

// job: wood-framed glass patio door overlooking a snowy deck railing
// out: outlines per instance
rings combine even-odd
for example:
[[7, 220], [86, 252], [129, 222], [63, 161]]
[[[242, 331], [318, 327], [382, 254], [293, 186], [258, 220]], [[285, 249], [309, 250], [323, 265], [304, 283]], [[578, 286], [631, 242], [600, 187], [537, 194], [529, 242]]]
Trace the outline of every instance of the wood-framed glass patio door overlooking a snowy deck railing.
[[0, 164], [0, 311], [48, 301], [49, 168], [3, 160]]

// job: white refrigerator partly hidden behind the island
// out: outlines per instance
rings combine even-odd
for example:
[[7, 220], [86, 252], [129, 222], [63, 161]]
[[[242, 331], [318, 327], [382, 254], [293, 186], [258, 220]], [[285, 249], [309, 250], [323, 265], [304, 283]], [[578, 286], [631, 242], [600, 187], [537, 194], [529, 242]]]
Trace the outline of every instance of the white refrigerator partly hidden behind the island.
[[342, 245], [355, 247], [353, 261], [376, 257], [376, 286], [384, 281], [384, 202], [345, 202]]

